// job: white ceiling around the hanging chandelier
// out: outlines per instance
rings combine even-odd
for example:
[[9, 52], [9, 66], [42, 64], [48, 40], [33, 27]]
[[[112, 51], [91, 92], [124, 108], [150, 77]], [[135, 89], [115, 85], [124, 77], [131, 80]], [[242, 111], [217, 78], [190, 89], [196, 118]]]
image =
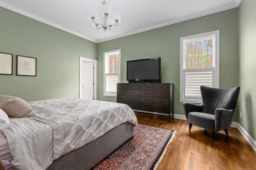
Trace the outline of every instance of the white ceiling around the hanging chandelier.
[[[0, 6], [95, 43], [236, 8], [241, 0], [106, 0], [121, 21], [96, 29], [88, 10], [100, 12], [103, 0], [0, 0]], [[100, 14], [98, 14], [100, 16]]]

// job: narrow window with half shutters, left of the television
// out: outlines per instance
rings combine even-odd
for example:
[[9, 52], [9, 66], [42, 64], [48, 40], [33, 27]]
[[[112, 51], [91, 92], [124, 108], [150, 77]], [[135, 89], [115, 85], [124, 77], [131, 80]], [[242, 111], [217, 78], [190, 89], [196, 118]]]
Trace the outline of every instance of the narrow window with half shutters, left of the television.
[[121, 50], [104, 52], [104, 96], [116, 96], [116, 84], [120, 83]]

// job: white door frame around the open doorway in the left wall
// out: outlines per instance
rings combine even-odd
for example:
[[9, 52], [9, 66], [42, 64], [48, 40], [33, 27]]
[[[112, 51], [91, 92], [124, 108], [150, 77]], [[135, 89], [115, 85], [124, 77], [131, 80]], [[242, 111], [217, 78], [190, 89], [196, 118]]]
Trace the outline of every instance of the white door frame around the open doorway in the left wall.
[[82, 98], [82, 76], [83, 76], [83, 69], [82, 69], [82, 63], [83, 61], [86, 61], [88, 63], [94, 63], [94, 100], [97, 100], [97, 74], [98, 74], [98, 61], [93, 59], [88, 59], [84, 57], [79, 57], [79, 98]]

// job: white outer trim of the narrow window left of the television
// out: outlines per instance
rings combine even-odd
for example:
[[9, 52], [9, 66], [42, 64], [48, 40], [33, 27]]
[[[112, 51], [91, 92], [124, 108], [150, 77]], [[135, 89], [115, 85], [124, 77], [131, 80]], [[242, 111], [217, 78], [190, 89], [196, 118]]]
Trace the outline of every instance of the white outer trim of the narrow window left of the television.
[[[103, 86], [103, 89], [104, 89], [104, 96], [113, 96], [113, 97], [116, 97], [116, 92], [114, 93], [107, 93], [106, 92], [106, 73], [105, 73], [105, 62], [106, 62], [106, 55], [114, 55], [114, 53], [119, 53], [119, 73], [118, 74], [118, 83], [121, 82], [121, 49], [118, 49], [118, 50], [112, 50], [112, 51], [106, 51], [103, 53], [103, 79], [104, 79], [104, 86]], [[109, 74], [109, 73], [107, 73]]]

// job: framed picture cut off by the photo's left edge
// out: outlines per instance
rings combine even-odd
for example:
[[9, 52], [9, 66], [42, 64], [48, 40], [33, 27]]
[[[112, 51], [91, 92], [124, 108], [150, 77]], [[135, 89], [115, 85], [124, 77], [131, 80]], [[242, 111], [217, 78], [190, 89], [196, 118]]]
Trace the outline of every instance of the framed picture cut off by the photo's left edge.
[[0, 74], [12, 75], [12, 54], [0, 53]]

